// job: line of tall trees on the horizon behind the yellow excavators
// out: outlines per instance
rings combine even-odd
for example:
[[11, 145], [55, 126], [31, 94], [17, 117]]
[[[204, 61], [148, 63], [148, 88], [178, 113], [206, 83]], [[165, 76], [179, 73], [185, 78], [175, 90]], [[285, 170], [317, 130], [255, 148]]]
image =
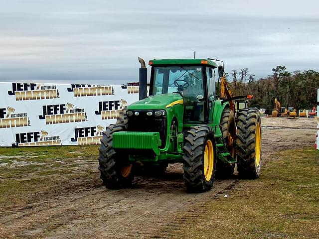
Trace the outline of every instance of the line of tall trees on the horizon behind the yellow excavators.
[[314, 70], [288, 72], [285, 66], [272, 69], [273, 74], [266, 78], [255, 79], [248, 68], [226, 73], [227, 81], [235, 96], [254, 95], [250, 107], [266, 108], [266, 114], [274, 109], [275, 97], [282, 107], [313, 109], [317, 105], [319, 72]]

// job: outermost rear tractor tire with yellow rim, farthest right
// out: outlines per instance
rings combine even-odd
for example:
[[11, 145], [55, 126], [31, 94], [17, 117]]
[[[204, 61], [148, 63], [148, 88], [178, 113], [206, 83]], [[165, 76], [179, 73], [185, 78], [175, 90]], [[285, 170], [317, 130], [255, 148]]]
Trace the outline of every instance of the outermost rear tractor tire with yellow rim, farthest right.
[[237, 168], [242, 178], [256, 179], [261, 169], [261, 119], [258, 109], [242, 109], [237, 115]]

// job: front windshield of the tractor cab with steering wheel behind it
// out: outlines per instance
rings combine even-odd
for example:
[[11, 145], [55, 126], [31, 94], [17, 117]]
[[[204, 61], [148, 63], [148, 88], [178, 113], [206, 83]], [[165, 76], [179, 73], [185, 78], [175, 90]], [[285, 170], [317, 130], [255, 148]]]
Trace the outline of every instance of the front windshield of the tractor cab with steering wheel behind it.
[[[202, 66], [154, 67], [153, 95], [181, 92], [183, 95], [204, 95]], [[178, 86], [183, 86], [182, 88]]]

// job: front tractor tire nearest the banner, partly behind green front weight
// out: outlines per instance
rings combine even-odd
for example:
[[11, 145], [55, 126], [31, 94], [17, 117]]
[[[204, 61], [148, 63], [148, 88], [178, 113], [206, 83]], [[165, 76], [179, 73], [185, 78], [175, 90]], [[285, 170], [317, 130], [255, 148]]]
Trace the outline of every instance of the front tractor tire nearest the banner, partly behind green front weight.
[[126, 188], [132, 185], [134, 168], [128, 156], [120, 154], [112, 147], [113, 133], [125, 131], [125, 124], [111, 124], [103, 132], [99, 148], [99, 170], [103, 184], [109, 189]]

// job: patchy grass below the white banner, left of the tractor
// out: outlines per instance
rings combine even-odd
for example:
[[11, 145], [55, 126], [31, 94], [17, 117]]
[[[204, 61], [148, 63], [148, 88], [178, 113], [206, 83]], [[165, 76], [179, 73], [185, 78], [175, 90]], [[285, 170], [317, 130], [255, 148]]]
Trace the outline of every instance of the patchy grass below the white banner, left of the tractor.
[[42, 193], [97, 177], [98, 147], [0, 147], [0, 208], [24, 207]]

